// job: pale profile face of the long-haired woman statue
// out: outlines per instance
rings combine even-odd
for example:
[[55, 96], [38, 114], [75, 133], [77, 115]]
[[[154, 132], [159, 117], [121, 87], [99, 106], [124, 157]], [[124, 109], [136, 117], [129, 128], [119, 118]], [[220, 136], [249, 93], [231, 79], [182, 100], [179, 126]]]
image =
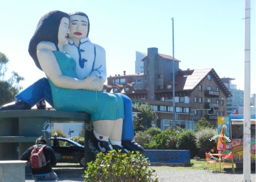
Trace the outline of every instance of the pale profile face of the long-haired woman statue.
[[68, 33], [70, 32], [68, 29], [69, 20], [66, 17], [63, 17], [60, 21], [59, 32], [58, 32], [58, 44], [64, 45], [67, 43]]

